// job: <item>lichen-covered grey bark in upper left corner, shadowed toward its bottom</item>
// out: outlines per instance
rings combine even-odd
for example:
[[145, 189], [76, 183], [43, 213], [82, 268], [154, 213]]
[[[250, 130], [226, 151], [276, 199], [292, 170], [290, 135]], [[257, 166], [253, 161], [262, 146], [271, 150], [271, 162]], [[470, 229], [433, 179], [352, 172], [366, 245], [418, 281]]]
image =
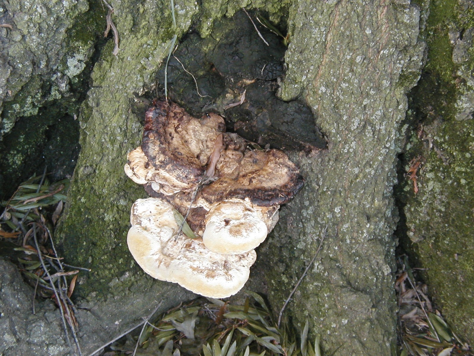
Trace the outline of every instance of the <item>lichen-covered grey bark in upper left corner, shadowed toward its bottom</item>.
[[34, 173], [31, 160], [40, 156], [48, 128], [79, 113], [103, 12], [96, 5], [85, 0], [1, 4], [0, 21], [12, 28], [0, 28], [0, 196], [14, 190], [4, 186]]

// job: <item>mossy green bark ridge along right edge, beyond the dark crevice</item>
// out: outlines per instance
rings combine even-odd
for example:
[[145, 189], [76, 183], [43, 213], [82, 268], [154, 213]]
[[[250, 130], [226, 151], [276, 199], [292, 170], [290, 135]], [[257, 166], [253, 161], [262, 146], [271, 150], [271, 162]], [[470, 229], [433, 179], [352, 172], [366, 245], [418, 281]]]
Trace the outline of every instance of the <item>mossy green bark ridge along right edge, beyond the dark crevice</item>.
[[412, 264], [453, 330], [474, 339], [473, 1], [430, 5], [428, 62], [412, 94], [405, 167], [419, 158], [418, 193], [401, 184]]

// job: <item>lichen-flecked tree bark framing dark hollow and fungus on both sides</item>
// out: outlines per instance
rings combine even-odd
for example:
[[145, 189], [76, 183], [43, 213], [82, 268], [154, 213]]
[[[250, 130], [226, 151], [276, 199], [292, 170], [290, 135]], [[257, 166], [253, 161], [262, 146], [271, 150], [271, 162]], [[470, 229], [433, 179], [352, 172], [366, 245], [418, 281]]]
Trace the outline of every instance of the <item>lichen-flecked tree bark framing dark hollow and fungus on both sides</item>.
[[[281, 97], [305, 101], [329, 142], [328, 150], [310, 156], [290, 152], [306, 187], [283, 208], [256, 271], [264, 270], [269, 299], [278, 309], [327, 226], [323, 249], [288, 312], [298, 323], [310, 320], [328, 353], [389, 355], [396, 307], [392, 186], [405, 94], [418, 80], [422, 62], [419, 9], [409, 1], [383, 0], [244, 1], [238, 6], [184, 0], [175, 1], [178, 25], [173, 28], [168, 1], [111, 5], [120, 52], [113, 56], [110, 42], [93, 68], [79, 118], [82, 151], [57, 232], [64, 257], [92, 269], [76, 287], [82, 305], [92, 308], [78, 315], [83, 352], [129, 328], [157, 300], [166, 301], [164, 309], [192, 296], [148, 278], [126, 247], [129, 208], [144, 197], [123, 173], [142, 130], [131, 106], [134, 93], [153, 86], [173, 35], [181, 37], [195, 21], [207, 36], [215, 19], [249, 6], [274, 18], [289, 8], [292, 43]], [[255, 275], [253, 285], [257, 276], [264, 278]], [[19, 347], [12, 344], [4, 355], [18, 354]], [[55, 352], [65, 353], [64, 347]]]

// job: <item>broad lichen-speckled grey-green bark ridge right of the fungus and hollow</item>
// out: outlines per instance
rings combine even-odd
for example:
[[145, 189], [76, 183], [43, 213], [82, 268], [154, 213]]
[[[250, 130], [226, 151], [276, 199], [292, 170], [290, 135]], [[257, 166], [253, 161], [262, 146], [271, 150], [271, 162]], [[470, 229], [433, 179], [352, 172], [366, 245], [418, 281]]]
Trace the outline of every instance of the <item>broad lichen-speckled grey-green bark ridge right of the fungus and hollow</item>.
[[306, 186], [282, 210], [261, 256], [279, 256], [268, 270], [281, 275], [268, 278], [270, 300], [283, 304], [328, 226], [292, 314], [301, 324], [310, 319], [325, 352], [389, 355], [396, 325], [392, 186], [405, 94], [423, 58], [419, 9], [403, 1], [295, 1], [289, 31], [281, 96], [304, 98], [329, 144], [310, 157], [293, 155]]

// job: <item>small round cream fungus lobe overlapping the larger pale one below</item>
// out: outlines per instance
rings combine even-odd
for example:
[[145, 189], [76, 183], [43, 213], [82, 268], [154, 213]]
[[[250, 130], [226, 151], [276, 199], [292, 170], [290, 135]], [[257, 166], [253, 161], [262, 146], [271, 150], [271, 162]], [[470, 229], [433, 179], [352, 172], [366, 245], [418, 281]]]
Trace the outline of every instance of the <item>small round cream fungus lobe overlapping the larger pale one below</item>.
[[212, 207], [206, 215], [202, 241], [218, 253], [245, 253], [261, 244], [268, 234], [260, 211], [242, 200], [229, 200]]

